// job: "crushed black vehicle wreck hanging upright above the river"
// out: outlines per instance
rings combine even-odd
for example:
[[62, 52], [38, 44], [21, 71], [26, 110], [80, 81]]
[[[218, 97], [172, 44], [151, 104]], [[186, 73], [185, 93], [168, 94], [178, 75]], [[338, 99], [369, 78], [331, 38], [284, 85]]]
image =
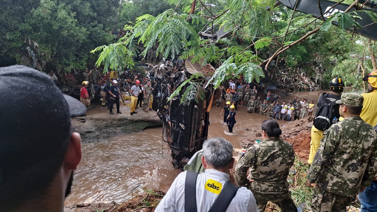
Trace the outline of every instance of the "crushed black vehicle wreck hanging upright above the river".
[[[209, 85], [204, 89], [205, 98], [197, 98], [198, 102], [195, 100], [196, 92], [191, 91], [188, 95], [189, 102], [185, 104], [181, 103], [181, 98], [190, 85], [187, 83], [179, 95], [169, 101], [175, 89], [192, 74], [201, 73], [207, 78], [215, 72], [212, 65], [202, 67], [199, 63], [191, 63], [190, 59], [185, 61], [185, 65], [181, 64], [179, 69], [169, 67], [169, 64], [169, 61], [166, 64], [160, 63], [150, 71], [155, 81], [152, 109], [162, 120], [162, 139], [169, 143], [172, 150], [173, 166], [183, 168], [192, 155], [202, 149], [202, 144], [208, 136], [210, 105], [213, 99], [220, 97], [222, 91], [221, 89], [214, 90]], [[205, 78], [199, 78], [199, 80], [205, 83]]]

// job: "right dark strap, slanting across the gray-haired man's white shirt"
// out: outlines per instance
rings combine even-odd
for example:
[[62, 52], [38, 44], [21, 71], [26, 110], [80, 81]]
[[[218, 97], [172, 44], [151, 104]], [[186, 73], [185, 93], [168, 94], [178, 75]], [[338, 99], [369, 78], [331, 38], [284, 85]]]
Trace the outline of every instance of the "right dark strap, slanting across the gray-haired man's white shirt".
[[225, 212], [239, 188], [228, 181], [208, 212]]

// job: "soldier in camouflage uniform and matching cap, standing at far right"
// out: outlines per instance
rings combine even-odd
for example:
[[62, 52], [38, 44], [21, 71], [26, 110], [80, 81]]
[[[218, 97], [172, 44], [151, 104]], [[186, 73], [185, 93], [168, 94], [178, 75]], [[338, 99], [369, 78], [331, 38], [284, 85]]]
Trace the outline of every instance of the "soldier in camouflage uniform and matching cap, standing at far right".
[[313, 212], [345, 212], [377, 173], [377, 135], [360, 118], [363, 101], [356, 93], [343, 94], [336, 101], [345, 119], [324, 132], [307, 175], [307, 186], [316, 183]]

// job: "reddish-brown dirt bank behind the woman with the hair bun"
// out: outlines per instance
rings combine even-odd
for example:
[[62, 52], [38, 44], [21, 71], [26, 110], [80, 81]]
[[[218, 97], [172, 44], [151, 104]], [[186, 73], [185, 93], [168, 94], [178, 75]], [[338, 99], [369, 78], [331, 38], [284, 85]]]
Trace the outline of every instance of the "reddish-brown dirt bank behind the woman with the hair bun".
[[[307, 161], [310, 153], [310, 129], [312, 122], [313, 116], [291, 121], [280, 126], [283, 132], [280, 138], [292, 144], [296, 155], [302, 161]], [[246, 128], [243, 131], [244, 134], [241, 136], [241, 146], [243, 148], [250, 147], [256, 140], [262, 140], [261, 125]]]

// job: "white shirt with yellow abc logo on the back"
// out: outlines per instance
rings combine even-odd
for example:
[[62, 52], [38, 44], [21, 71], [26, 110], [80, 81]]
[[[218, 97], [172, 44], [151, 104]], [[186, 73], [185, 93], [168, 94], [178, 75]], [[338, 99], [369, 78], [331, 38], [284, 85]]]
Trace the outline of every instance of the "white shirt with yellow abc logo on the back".
[[[185, 179], [186, 173], [182, 172], [175, 178], [164, 198], [155, 209], [155, 212], [183, 212], [185, 209]], [[229, 175], [216, 169], [206, 169], [198, 175], [196, 180], [196, 206], [198, 212], [208, 211], [220, 194]], [[227, 212], [258, 212], [254, 195], [246, 187], [238, 189], [229, 204]]]

